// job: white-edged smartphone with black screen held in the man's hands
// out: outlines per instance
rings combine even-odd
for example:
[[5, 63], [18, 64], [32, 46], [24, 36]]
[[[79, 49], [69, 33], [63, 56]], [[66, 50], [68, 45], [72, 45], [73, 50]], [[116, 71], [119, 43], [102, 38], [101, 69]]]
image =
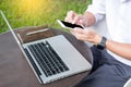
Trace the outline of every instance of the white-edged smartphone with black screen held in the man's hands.
[[60, 20], [57, 20], [57, 22], [61, 25], [61, 27], [63, 28], [75, 28], [75, 27], [80, 27], [80, 28], [83, 28], [81, 25], [76, 25], [76, 24], [71, 24], [71, 23], [68, 23], [68, 22], [64, 22], [64, 21], [60, 21]]

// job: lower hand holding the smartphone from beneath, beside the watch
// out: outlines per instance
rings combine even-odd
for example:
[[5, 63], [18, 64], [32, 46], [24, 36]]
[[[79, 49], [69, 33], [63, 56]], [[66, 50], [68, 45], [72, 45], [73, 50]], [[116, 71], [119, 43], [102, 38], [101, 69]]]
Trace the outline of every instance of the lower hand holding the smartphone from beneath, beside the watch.
[[99, 44], [102, 40], [102, 36], [96, 34], [94, 29], [86, 28], [73, 28], [71, 29], [71, 33], [79, 39], [79, 40], [84, 40], [84, 41], [90, 41], [95, 45]]

